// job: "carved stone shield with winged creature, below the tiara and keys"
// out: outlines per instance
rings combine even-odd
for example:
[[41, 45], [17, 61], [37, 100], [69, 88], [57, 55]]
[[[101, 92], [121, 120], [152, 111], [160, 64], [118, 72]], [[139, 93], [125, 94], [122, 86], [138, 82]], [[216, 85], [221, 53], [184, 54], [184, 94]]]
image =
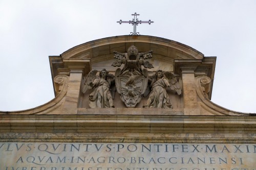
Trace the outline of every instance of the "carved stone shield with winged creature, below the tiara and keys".
[[135, 107], [147, 87], [147, 70], [143, 69], [142, 73], [136, 70], [121, 72], [121, 69], [118, 68], [115, 75], [116, 90], [121, 94], [121, 100], [126, 107]]

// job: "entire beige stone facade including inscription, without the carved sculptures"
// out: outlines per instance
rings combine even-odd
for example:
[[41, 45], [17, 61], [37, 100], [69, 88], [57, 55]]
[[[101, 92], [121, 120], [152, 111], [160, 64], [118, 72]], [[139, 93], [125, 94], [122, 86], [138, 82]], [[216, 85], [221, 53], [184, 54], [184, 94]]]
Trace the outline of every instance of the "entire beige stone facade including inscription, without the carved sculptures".
[[[159, 69], [175, 76], [181, 95], [165, 88], [173, 108], [143, 108], [148, 96], [126, 108], [117, 93], [115, 108], [89, 107], [84, 78], [95, 68], [115, 74], [113, 51], [126, 53], [131, 45], [154, 51], [149, 77]], [[50, 57], [55, 98], [0, 112], [0, 169], [255, 170], [256, 116], [210, 101], [215, 63], [151, 36], [103, 38]]]

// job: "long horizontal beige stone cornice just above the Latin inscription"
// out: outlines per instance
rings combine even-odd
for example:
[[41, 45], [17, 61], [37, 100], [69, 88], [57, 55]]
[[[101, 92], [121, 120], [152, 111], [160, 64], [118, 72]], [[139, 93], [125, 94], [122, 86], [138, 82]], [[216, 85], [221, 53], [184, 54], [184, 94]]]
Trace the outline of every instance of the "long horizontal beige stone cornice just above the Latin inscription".
[[256, 116], [0, 115], [0, 141], [255, 143]]

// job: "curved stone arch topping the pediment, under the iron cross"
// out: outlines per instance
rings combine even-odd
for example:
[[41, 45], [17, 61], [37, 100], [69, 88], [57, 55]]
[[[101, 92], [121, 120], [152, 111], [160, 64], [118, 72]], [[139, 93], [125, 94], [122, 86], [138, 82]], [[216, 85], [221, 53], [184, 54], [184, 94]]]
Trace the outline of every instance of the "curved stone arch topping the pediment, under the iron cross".
[[70, 48], [62, 53], [61, 57], [62, 59], [90, 58], [92, 62], [97, 62], [108, 57], [112, 58], [113, 51], [126, 52], [131, 45], [135, 45], [140, 51], [153, 50], [157, 57], [172, 59], [203, 59], [204, 57], [194, 48], [177, 41], [141, 35], [115, 36], [86, 42]]

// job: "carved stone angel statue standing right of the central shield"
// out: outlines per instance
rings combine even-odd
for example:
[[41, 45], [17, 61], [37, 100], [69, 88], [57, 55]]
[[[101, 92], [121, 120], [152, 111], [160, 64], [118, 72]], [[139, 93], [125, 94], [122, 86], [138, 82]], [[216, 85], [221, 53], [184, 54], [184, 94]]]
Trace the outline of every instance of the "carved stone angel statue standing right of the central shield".
[[[151, 81], [151, 92], [150, 96], [148, 97], [147, 103], [143, 105], [143, 107], [173, 108], [169, 96], [166, 92], [166, 88], [169, 87], [172, 90], [176, 90], [179, 95], [181, 94], [180, 84], [177, 81], [176, 77], [169, 71], [163, 72], [162, 70], [158, 70], [153, 76], [153, 79], [149, 79], [148, 81]], [[146, 93], [148, 94], [149, 91], [146, 91], [144, 94]]]

